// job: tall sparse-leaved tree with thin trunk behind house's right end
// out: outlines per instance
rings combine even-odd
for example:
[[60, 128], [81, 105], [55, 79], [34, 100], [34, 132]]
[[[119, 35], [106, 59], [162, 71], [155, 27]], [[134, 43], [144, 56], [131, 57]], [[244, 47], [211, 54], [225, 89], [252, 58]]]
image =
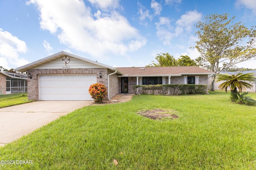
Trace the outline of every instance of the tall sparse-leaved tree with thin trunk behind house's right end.
[[255, 27], [249, 29], [241, 22], [233, 23], [235, 17], [229, 19], [228, 16], [209, 15], [205, 17], [206, 21], [198, 21], [196, 25], [199, 40], [195, 48], [200, 53], [196, 61], [216, 73], [212, 77], [212, 91], [218, 73], [234, 64], [256, 59]]

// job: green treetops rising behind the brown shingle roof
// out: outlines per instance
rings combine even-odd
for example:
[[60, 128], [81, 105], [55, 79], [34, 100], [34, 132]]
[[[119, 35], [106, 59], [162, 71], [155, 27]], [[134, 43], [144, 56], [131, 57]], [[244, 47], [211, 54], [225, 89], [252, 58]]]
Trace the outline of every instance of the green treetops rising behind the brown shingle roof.
[[187, 55], [182, 55], [180, 58], [175, 59], [169, 53], [161, 53], [156, 56], [156, 61], [152, 61], [151, 64], [146, 65], [146, 67], [165, 67], [165, 66], [196, 66], [196, 62]]

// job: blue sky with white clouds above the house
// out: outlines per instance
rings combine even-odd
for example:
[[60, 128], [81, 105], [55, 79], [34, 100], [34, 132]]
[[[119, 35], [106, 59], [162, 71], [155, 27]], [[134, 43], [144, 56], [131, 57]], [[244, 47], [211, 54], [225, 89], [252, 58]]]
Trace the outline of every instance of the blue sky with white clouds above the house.
[[195, 59], [195, 24], [224, 13], [256, 25], [255, 0], [0, 0], [0, 66], [60, 51], [115, 67], [145, 66], [160, 53]]

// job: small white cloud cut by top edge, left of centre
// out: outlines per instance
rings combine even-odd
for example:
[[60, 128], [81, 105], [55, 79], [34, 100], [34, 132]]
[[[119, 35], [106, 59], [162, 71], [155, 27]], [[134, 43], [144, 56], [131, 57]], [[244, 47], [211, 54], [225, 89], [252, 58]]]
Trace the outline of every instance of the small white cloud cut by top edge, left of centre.
[[88, 0], [92, 5], [102, 9], [114, 9], [119, 6], [119, 0]]

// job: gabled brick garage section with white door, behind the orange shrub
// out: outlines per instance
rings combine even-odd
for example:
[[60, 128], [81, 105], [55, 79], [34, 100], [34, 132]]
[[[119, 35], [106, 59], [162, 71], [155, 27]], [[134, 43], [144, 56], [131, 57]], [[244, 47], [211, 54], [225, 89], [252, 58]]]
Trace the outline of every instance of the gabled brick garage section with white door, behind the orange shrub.
[[93, 100], [90, 85], [102, 83], [108, 99], [119, 93], [118, 69], [61, 51], [16, 71], [28, 75], [28, 100]]

